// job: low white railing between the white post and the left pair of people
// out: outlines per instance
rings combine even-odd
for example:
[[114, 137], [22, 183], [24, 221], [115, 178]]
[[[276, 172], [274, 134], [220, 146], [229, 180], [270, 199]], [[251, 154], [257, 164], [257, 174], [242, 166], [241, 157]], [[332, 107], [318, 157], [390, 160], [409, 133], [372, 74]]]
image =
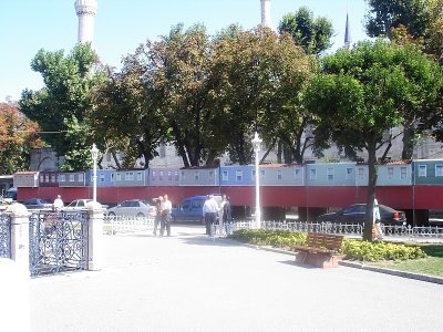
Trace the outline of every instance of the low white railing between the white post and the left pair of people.
[[115, 235], [117, 232], [136, 232], [152, 230], [153, 217], [104, 216], [103, 232]]

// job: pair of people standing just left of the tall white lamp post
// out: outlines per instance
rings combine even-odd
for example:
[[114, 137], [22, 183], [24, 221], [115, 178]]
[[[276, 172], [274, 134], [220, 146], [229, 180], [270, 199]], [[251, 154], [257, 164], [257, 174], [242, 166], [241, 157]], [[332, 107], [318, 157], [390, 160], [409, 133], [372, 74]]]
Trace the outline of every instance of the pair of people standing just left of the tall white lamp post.
[[212, 236], [213, 225], [218, 225], [220, 230], [225, 227], [226, 234], [229, 232], [229, 224], [233, 220], [230, 201], [226, 195], [222, 196], [222, 203], [218, 205], [214, 195], [208, 195], [203, 205], [203, 215], [205, 217], [206, 235]]

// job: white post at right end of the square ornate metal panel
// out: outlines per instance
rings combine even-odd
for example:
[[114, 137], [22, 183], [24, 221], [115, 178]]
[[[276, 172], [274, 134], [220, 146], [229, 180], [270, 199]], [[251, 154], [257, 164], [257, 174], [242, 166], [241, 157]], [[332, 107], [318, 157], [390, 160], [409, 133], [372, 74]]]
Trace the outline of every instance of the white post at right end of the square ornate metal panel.
[[87, 270], [99, 271], [104, 263], [103, 208], [100, 203], [86, 206], [87, 222]]

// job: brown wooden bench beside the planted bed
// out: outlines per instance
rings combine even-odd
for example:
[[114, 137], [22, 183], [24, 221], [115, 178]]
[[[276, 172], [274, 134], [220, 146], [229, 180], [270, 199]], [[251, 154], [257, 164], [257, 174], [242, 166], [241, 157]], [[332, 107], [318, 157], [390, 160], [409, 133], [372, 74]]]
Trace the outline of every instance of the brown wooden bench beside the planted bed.
[[306, 246], [291, 246], [298, 251], [296, 262], [308, 263], [318, 268], [338, 267], [338, 250], [343, 241], [343, 236], [308, 232]]

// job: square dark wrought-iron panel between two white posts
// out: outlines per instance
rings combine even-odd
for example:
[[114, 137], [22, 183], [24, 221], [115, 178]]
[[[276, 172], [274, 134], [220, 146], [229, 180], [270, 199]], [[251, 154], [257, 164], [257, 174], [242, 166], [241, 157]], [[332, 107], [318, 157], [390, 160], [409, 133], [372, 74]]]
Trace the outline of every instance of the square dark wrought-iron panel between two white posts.
[[30, 216], [31, 276], [87, 269], [87, 214], [40, 211]]

